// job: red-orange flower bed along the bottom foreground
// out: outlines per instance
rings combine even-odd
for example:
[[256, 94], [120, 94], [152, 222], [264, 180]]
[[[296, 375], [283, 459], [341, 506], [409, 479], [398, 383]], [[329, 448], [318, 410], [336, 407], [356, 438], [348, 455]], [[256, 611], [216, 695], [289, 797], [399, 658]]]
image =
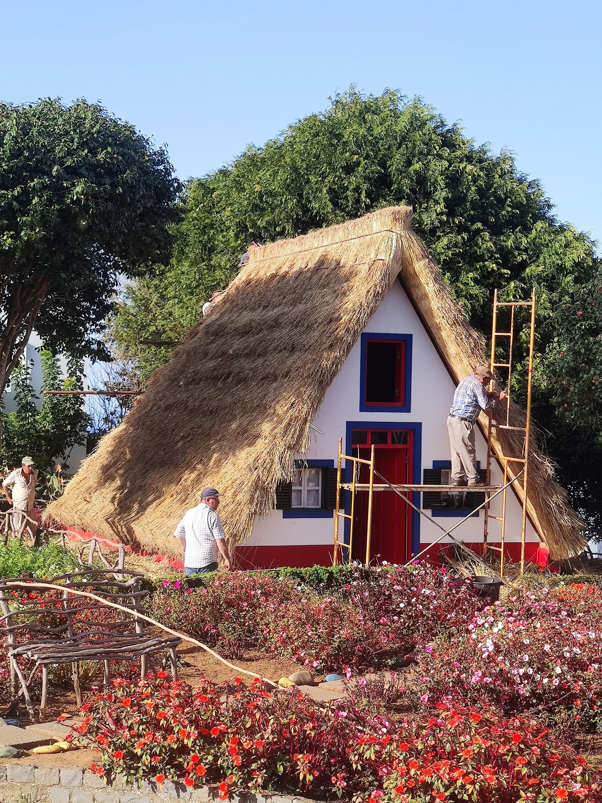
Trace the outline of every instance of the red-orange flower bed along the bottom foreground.
[[92, 768], [108, 781], [217, 783], [222, 800], [235, 789], [370, 803], [600, 800], [591, 769], [543, 726], [445, 701], [391, 723], [353, 700], [324, 707], [241, 679], [193, 689], [159, 673], [115, 681], [83, 713], [78, 738], [100, 749]]

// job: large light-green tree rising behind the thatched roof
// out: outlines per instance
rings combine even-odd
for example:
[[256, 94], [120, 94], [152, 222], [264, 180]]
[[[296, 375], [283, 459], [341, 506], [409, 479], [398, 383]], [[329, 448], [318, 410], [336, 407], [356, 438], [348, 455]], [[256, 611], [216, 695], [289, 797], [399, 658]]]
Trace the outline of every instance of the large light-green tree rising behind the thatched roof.
[[[180, 340], [211, 291], [238, 270], [251, 240], [292, 237], [399, 204], [413, 207], [414, 226], [482, 332], [490, 331], [495, 287], [515, 299], [537, 288], [543, 431], [553, 433], [547, 446], [576, 489], [573, 499], [595, 517], [596, 499], [571, 479], [570, 438], [554, 418], [543, 359], [554, 348], [558, 311], [598, 268], [593, 243], [555, 218], [539, 182], [519, 172], [512, 154], [475, 144], [398, 92], [338, 96], [323, 114], [190, 182], [172, 262], [131, 283], [119, 305], [113, 337], [121, 355], [136, 358], [144, 377], [168, 359], [169, 348], [140, 347], [140, 337]], [[588, 441], [587, 433], [580, 437]], [[602, 469], [602, 454], [597, 461]]]

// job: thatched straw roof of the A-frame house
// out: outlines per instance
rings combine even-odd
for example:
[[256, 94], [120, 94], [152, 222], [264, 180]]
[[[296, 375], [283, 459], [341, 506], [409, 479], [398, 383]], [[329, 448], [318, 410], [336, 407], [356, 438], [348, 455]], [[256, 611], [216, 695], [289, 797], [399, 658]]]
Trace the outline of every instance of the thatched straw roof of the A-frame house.
[[[275, 506], [307, 450], [309, 424], [380, 301], [399, 278], [459, 381], [483, 360], [409, 207], [383, 209], [303, 237], [251, 248], [249, 263], [194, 326], [48, 508], [67, 526], [162, 554], [201, 487], [226, 491], [234, 544]], [[498, 444], [495, 444], [498, 448]], [[508, 448], [508, 446], [506, 446]], [[551, 556], [580, 552], [582, 524], [539, 451], [529, 515]], [[519, 491], [520, 492], [520, 491]]]

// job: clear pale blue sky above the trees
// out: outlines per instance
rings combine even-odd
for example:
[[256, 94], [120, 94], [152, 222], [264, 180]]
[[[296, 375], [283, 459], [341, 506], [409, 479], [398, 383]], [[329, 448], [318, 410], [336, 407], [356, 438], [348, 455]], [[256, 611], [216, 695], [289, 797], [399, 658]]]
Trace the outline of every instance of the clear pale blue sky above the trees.
[[516, 154], [602, 238], [596, 0], [0, 0], [0, 98], [101, 100], [200, 176], [356, 84]]

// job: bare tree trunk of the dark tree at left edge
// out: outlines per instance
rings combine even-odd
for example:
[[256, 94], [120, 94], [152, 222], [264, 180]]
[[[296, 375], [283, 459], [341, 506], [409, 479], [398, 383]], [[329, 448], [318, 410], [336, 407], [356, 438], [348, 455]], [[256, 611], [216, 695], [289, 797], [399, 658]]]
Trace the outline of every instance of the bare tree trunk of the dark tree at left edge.
[[[35, 279], [15, 285], [6, 298], [5, 326], [0, 332], [0, 389], [3, 392], [10, 374], [25, 351], [40, 307], [48, 292], [48, 282]], [[0, 450], [2, 450], [2, 418], [0, 418]]]

